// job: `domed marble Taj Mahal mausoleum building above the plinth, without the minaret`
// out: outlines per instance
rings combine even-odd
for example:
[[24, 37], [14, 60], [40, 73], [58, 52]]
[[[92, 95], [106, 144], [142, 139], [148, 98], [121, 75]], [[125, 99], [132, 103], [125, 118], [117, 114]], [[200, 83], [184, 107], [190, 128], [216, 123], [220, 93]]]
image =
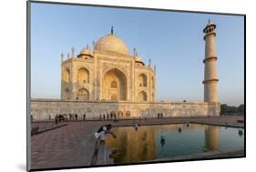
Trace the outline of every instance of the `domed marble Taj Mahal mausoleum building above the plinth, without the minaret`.
[[62, 62], [62, 100], [154, 102], [155, 71], [113, 32]]

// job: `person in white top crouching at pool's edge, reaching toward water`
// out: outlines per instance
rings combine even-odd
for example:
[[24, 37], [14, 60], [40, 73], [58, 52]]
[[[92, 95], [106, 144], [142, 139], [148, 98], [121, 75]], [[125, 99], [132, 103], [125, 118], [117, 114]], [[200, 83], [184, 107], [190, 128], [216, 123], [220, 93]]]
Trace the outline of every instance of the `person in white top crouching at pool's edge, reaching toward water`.
[[108, 124], [106, 126], [100, 126], [95, 132], [94, 136], [96, 137], [96, 142], [95, 142], [95, 153], [97, 152], [97, 149], [100, 145], [105, 145], [105, 139], [106, 135], [110, 134], [112, 137], [116, 138], [116, 135], [110, 131], [112, 128], [112, 125]]

